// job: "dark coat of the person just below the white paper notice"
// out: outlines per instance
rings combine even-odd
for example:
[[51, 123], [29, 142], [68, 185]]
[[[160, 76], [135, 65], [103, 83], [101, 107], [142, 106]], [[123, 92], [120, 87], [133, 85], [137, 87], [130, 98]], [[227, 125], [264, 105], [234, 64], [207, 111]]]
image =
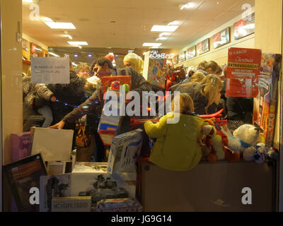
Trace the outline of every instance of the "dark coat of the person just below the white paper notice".
[[74, 71], [70, 71], [69, 84], [47, 85], [57, 98], [57, 102], [51, 103], [54, 123], [61, 121], [66, 114], [84, 101], [85, 84], [85, 78], [79, 78]]

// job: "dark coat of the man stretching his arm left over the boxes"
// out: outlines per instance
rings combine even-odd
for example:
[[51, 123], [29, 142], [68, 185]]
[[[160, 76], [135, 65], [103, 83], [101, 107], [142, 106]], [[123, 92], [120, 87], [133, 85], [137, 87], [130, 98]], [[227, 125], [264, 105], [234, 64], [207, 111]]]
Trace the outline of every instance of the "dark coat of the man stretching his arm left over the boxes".
[[[144, 79], [144, 77], [137, 73], [137, 71], [134, 71], [131, 67], [126, 67], [125, 69], [118, 71], [117, 76], [132, 76], [132, 90], [137, 91], [140, 95], [142, 91], [149, 92], [151, 90], [150, 84]], [[88, 100], [67, 114], [63, 121], [72, 123], [76, 121], [76, 119], [83, 117], [84, 114], [92, 113], [98, 117], [96, 120], [97, 127], [103, 105], [103, 90], [101, 88], [97, 88]]]

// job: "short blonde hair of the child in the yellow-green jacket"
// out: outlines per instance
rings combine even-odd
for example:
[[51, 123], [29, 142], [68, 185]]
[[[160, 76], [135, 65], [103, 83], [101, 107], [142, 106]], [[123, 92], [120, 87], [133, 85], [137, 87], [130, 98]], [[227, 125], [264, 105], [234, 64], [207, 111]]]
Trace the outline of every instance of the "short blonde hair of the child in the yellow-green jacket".
[[171, 110], [180, 112], [180, 114], [188, 114], [195, 111], [194, 102], [187, 93], [180, 93], [173, 98], [171, 102]]

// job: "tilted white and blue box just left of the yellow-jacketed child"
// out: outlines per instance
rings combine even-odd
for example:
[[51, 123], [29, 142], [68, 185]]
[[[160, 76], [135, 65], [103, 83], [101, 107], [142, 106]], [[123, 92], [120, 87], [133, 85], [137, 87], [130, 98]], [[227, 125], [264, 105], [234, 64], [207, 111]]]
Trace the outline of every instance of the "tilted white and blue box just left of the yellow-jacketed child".
[[136, 172], [135, 163], [142, 145], [142, 130], [136, 129], [113, 138], [108, 157], [108, 172]]

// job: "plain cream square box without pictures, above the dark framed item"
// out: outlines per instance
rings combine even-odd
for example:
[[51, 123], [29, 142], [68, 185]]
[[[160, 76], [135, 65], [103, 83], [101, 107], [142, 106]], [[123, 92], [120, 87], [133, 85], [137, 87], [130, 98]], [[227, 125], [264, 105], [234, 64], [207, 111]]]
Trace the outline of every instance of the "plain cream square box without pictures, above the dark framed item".
[[31, 127], [30, 153], [42, 153], [45, 161], [70, 161], [73, 130]]

